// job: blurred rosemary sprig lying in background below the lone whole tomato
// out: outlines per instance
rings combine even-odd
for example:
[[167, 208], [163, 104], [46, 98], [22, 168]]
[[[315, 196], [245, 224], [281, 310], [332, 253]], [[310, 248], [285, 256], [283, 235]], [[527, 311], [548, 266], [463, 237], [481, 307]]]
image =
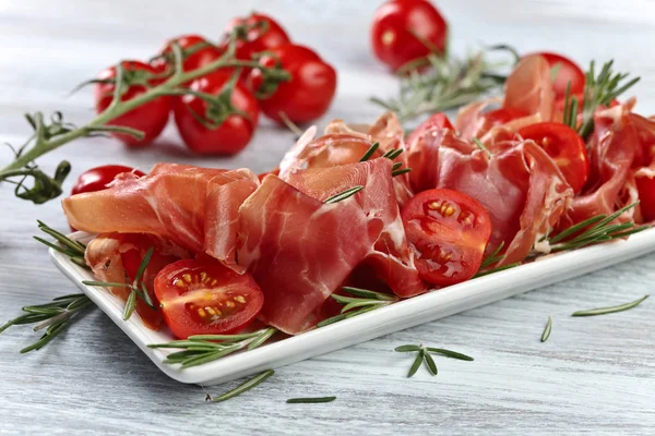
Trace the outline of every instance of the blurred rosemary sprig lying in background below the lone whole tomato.
[[499, 89], [505, 81], [498, 71], [502, 65], [488, 62], [484, 51], [465, 59], [430, 55], [427, 60], [430, 71], [413, 71], [402, 78], [396, 98], [373, 97], [370, 101], [407, 121], [473, 102], [481, 95]]

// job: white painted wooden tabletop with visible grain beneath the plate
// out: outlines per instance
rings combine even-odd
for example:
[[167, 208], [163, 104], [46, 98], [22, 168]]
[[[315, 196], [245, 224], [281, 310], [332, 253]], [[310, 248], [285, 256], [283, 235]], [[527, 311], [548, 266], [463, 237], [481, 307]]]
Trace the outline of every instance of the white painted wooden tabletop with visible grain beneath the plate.
[[[92, 116], [88, 92], [64, 98], [76, 83], [120, 58], [147, 58], [171, 35], [221, 34], [233, 15], [271, 12], [290, 35], [340, 71], [325, 117], [370, 121], [370, 95], [391, 95], [394, 80], [369, 55], [377, 1], [0, 1], [0, 140], [20, 144], [25, 111], [62, 110], [69, 121]], [[655, 4], [652, 1], [443, 0], [455, 51], [479, 43], [520, 50], [553, 49], [580, 62], [616, 59], [643, 77], [638, 109], [655, 112]], [[323, 120], [323, 121], [325, 121]], [[263, 170], [291, 135], [264, 123], [234, 159], [188, 155], [169, 126], [156, 147], [128, 152], [110, 140], [80, 141], [39, 164], [67, 158], [73, 173], [107, 162], [148, 168], [156, 161]], [[9, 159], [0, 150], [0, 162]], [[74, 291], [31, 240], [35, 220], [66, 228], [57, 202], [34, 206], [0, 187], [0, 319], [22, 305]], [[653, 290], [655, 256], [469, 311], [279, 370], [254, 390], [205, 404], [201, 388], [168, 379], [98, 311], [64, 340], [27, 355], [28, 328], [0, 336], [0, 434], [653, 434], [655, 305], [593, 318], [580, 308], [622, 303]], [[540, 343], [548, 315], [552, 335]], [[402, 343], [452, 348], [475, 362], [438, 359], [440, 373], [405, 374]], [[212, 393], [231, 388], [213, 387]], [[290, 397], [335, 395], [327, 404], [286, 404]]]

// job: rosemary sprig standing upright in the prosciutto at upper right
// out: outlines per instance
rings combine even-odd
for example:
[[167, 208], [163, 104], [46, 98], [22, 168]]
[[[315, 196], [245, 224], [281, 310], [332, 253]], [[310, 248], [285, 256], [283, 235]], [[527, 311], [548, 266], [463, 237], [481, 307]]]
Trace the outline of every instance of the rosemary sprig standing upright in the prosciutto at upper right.
[[[580, 136], [586, 138], [594, 130], [594, 112], [598, 106], [608, 106], [614, 99], [630, 89], [640, 77], [624, 82], [629, 73], [615, 73], [614, 60], [603, 64], [598, 75], [595, 73], [595, 62], [592, 61], [585, 75], [585, 88], [582, 100], [570, 95], [567, 86], [564, 96], [564, 124], [577, 131]], [[570, 85], [570, 84], [569, 84]], [[577, 124], [577, 110], [582, 108], [582, 123]]]

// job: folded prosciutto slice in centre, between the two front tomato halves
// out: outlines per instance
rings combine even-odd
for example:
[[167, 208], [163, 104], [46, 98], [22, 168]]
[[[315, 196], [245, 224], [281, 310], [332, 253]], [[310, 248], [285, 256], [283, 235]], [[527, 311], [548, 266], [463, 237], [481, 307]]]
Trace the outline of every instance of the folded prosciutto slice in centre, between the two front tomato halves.
[[[374, 159], [296, 171], [289, 183], [267, 175], [241, 205], [238, 258], [264, 292], [261, 320], [291, 335], [320, 320], [325, 300], [398, 218], [389, 203], [391, 167], [389, 159]], [[334, 183], [324, 182], [326, 171]], [[324, 203], [359, 184], [365, 187], [356, 195]]]

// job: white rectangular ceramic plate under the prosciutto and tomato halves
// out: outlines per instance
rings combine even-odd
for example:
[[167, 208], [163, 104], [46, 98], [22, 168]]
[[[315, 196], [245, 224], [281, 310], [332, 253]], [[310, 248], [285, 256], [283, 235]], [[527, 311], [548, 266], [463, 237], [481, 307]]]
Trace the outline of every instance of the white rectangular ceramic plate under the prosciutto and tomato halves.
[[[78, 232], [72, 238], [87, 242], [92, 237]], [[404, 300], [350, 319], [186, 370], [180, 370], [179, 365], [163, 363], [167, 353], [176, 350], [147, 348], [150, 343], [172, 340], [170, 332], [147, 329], [135, 314], [131, 319], [124, 322], [122, 319], [122, 301], [103, 288], [87, 287], [82, 283], [82, 280], [94, 279], [90, 271], [73, 264], [67, 256], [53, 250], [50, 250], [50, 257], [55, 265], [88, 295], [165, 374], [181, 383], [212, 385], [329, 353], [536, 288], [582, 276], [653, 251], [655, 251], [655, 229], [648, 229], [633, 234], [627, 241], [616, 241], [546, 256], [531, 264]]]

